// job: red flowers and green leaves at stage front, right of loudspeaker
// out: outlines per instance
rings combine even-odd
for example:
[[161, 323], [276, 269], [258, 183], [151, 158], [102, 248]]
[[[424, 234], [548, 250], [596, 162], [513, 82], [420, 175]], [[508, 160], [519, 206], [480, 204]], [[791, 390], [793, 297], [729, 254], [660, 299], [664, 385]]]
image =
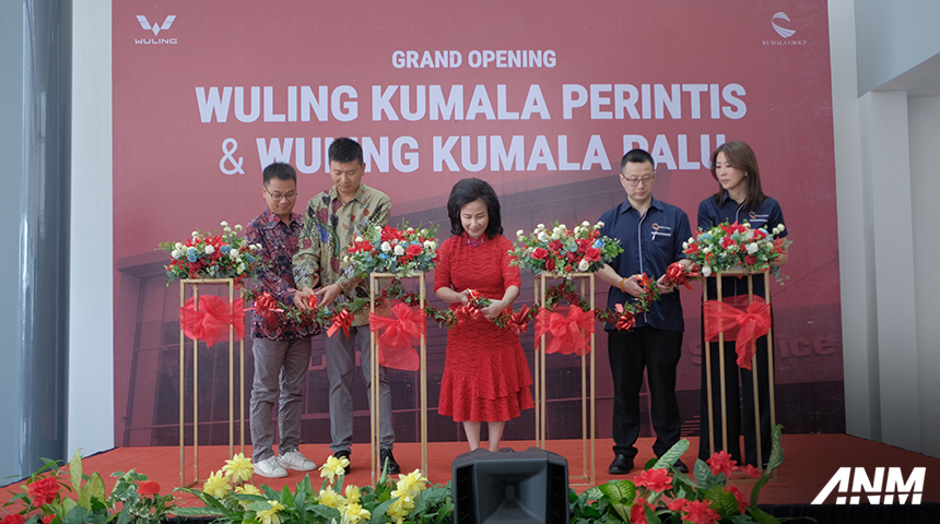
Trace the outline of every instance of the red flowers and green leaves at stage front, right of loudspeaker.
[[[611, 480], [579, 496], [571, 491], [568, 498], [574, 513], [571, 522], [779, 523], [757, 508], [757, 497], [771, 473], [784, 462], [780, 433], [778, 425], [773, 430], [771, 457], [763, 474], [754, 466], [738, 466], [730, 455], [720, 451], [707, 461], [697, 460], [693, 475], [684, 475], [673, 467], [689, 449], [689, 441], [682, 439], [659, 460], [650, 460], [633, 480]], [[756, 479], [750, 497], [740, 488], [727, 485], [728, 478], [739, 472]]]

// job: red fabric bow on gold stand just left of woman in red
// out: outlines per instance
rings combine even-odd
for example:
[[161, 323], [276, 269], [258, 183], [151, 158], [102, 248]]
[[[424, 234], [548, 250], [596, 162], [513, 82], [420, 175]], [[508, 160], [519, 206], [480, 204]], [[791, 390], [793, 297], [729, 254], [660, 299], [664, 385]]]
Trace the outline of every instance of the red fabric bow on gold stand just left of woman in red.
[[395, 318], [368, 313], [369, 331], [385, 330], [378, 336], [378, 364], [386, 368], [416, 371], [421, 367], [413, 341], [424, 334], [424, 311], [403, 302], [391, 308]]

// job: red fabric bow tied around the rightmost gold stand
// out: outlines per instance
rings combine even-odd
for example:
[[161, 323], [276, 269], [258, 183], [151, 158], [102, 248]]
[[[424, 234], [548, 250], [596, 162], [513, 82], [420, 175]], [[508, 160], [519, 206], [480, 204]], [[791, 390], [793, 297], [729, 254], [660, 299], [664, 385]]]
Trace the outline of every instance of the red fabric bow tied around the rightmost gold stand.
[[[751, 359], [757, 352], [756, 341], [771, 330], [771, 305], [761, 297], [754, 297], [745, 309], [718, 300], [706, 301], [702, 309], [705, 313], [705, 340], [716, 342], [718, 333], [726, 333], [726, 341], [736, 341], [738, 367], [751, 369]], [[737, 333], [735, 329], [738, 329]]]

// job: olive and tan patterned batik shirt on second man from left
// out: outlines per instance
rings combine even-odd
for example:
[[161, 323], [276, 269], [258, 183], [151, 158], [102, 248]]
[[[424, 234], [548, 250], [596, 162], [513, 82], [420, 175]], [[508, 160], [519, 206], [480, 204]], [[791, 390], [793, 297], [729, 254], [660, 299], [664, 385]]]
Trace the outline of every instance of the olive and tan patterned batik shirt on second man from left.
[[[368, 297], [367, 283], [355, 278], [355, 267], [343, 263], [343, 253], [367, 226], [388, 225], [391, 201], [388, 195], [360, 182], [355, 195], [345, 204], [336, 187], [324, 191], [307, 204], [301, 249], [294, 255], [297, 288], [313, 287], [313, 274], [319, 272], [320, 285], [337, 284], [338, 303], [353, 297]], [[352, 325], [368, 324], [368, 310], [355, 315]]]

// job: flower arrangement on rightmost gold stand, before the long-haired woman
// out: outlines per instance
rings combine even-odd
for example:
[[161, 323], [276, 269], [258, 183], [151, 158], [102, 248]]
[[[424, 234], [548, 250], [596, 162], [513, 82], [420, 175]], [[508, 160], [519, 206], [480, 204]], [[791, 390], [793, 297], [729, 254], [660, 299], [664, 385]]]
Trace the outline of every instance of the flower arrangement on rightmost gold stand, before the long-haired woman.
[[682, 249], [701, 267], [704, 277], [740, 265], [750, 273], [771, 271], [779, 278], [780, 269], [774, 262], [792, 243], [785, 238], [774, 238], [784, 230], [783, 224], [767, 231], [753, 229], [747, 222], [731, 225], [725, 222], [707, 231], [700, 228], [696, 237], [682, 242]]

